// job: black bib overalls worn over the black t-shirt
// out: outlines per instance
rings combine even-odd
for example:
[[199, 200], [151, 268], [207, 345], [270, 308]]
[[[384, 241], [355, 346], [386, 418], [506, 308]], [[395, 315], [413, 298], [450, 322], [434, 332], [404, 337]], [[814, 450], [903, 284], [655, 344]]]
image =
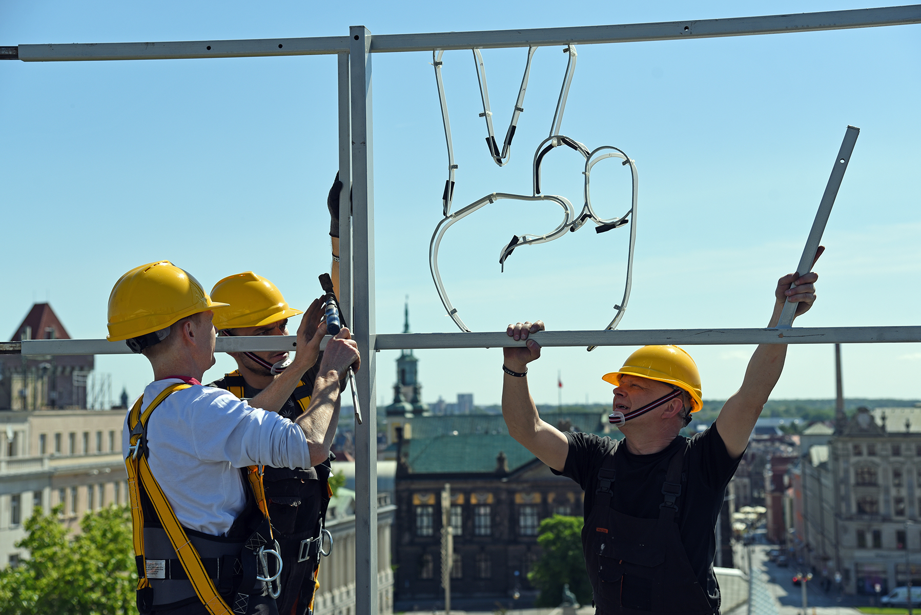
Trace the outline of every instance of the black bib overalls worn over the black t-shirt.
[[[718, 615], [684, 551], [678, 531], [678, 498], [687, 447], [671, 457], [659, 518], [627, 516], [611, 507], [616, 479], [615, 453], [598, 472], [598, 489], [585, 527], [582, 548], [599, 613], [621, 615]], [[622, 495], [623, 496], [623, 495]]]

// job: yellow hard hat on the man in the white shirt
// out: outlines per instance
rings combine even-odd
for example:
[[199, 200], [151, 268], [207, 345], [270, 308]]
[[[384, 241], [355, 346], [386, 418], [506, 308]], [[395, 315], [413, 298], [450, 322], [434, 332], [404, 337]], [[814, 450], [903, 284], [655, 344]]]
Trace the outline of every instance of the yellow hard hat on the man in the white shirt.
[[109, 296], [110, 342], [166, 329], [179, 319], [224, 308], [192, 274], [169, 261], [148, 262], [119, 278]]

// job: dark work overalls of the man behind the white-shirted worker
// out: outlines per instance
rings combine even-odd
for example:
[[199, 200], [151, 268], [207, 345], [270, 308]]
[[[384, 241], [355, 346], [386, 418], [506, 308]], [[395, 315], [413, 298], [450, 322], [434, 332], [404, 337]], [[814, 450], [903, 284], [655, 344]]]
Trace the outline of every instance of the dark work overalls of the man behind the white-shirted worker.
[[[297, 383], [290, 400], [279, 412], [291, 421], [297, 418], [296, 413], [305, 412], [309, 406], [313, 385], [305, 380], [309, 377], [304, 376]], [[246, 381], [239, 371], [227, 374], [223, 384], [236, 397], [245, 399]], [[330, 459], [313, 468], [296, 470], [265, 466], [262, 475], [265, 497], [274, 538], [282, 553], [282, 593], [276, 600], [281, 615], [305, 615], [313, 611], [321, 553], [328, 555], [332, 548], [332, 536], [323, 528], [332, 496], [328, 482], [331, 472]], [[324, 531], [329, 537], [325, 550]]]

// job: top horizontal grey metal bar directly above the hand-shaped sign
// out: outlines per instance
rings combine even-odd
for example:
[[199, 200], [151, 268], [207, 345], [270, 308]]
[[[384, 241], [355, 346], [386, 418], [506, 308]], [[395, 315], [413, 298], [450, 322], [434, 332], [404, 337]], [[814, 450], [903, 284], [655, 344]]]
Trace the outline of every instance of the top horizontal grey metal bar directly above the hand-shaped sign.
[[423, 52], [433, 49], [491, 49], [587, 45], [606, 42], [675, 41], [753, 34], [815, 32], [829, 29], [872, 28], [921, 23], [921, 5], [883, 6], [847, 11], [823, 11], [794, 15], [732, 17], [660, 21], [613, 26], [437, 32], [432, 34], [384, 34], [374, 37], [371, 52]]

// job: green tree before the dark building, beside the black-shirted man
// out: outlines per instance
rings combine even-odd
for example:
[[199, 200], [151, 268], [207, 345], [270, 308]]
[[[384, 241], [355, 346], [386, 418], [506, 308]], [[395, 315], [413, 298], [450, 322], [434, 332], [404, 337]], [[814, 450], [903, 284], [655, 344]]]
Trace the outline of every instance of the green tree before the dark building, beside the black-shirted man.
[[528, 573], [530, 584], [541, 590], [534, 606], [559, 606], [565, 583], [580, 604], [591, 604], [591, 584], [582, 556], [582, 517], [554, 515], [542, 520], [537, 543], [541, 559]]

